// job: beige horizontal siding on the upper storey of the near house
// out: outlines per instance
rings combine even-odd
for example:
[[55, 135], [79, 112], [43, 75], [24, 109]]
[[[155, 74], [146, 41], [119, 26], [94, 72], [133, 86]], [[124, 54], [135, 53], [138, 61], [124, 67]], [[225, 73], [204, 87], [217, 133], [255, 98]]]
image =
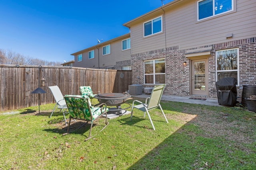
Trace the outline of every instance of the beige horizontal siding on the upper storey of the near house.
[[[236, 12], [201, 21], [197, 21], [196, 2], [184, 0], [165, 9], [164, 33], [143, 38], [143, 23], [132, 25], [132, 54], [161, 49], [165, 46], [178, 45], [180, 49], [189, 49], [223, 43], [230, 41], [226, 39], [229, 33], [233, 34], [232, 41], [256, 35], [256, 1], [236, 0]], [[151, 18], [158, 16], [160, 15]], [[164, 17], [162, 20], [164, 21]]]

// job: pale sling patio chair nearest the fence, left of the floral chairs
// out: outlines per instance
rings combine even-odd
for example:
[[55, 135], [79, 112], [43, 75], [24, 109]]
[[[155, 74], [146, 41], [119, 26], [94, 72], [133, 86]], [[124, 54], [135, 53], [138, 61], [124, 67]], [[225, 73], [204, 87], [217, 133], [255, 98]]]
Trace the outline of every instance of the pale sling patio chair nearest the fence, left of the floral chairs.
[[[63, 113], [63, 116], [64, 116], [64, 119], [65, 119], [65, 123], [67, 124], [67, 120], [66, 120], [66, 117], [65, 117], [65, 114], [66, 114], [66, 109], [68, 108], [67, 105], [66, 105], [66, 102], [63, 98], [63, 95], [60, 91], [60, 88], [58, 86], [49, 86], [51, 92], [52, 92], [52, 95], [56, 101], [56, 105], [54, 106], [54, 109], [52, 110], [52, 113], [54, 112], [56, 106], [58, 109], [60, 109], [60, 111], [62, 111]], [[65, 111], [64, 111], [65, 109]], [[52, 117], [52, 114], [50, 115], [49, 118]]]

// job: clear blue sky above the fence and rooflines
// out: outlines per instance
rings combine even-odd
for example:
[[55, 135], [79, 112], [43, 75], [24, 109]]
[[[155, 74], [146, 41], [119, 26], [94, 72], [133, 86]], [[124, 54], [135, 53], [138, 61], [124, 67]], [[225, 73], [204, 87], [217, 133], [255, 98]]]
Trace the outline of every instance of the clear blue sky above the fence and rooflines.
[[0, 0], [0, 49], [64, 63], [97, 39], [129, 33], [124, 23], [161, 5], [161, 0]]

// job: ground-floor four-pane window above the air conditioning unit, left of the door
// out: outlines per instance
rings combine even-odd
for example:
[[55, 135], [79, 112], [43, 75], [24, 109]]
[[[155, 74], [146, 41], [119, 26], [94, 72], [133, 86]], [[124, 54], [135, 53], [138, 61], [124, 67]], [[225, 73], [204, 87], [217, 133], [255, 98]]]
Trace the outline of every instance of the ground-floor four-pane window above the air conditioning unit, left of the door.
[[144, 61], [144, 83], [165, 83], [165, 59]]

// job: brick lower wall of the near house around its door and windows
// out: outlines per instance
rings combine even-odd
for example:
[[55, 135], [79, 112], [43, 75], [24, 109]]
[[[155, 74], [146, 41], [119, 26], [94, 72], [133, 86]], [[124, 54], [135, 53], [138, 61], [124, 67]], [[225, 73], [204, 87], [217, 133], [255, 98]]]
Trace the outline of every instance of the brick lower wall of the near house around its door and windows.
[[[256, 85], [256, 37], [229, 41], [226, 43], [218, 43], [202, 47], [194, 47], [191, 49], [179, 50], [178, 46], [168, 47], [138, 53], [131, 55], [132, 68], [132, 84], [142, 84], [145, 87], [153, 87], [154, 85], [144, 84], [144, 65], [147, 60], [165, 58], [166, 62], [166, 89], [164, 94], [176, 96], [190, 96], [190, 68], [189, 60], [186, 59], [187, 50], [194, 50], [212, 47], [211, 57], [208, 58], [208, 98], [217, 98], [216, 94], [216, 59], [215, 51], [222, 49], [239, 48], [239, 80], [240, 86], [237, 88], [238, 97], [242, 96], [243, 85]], [[187, 66], [182, 63], [186, 61]]]

